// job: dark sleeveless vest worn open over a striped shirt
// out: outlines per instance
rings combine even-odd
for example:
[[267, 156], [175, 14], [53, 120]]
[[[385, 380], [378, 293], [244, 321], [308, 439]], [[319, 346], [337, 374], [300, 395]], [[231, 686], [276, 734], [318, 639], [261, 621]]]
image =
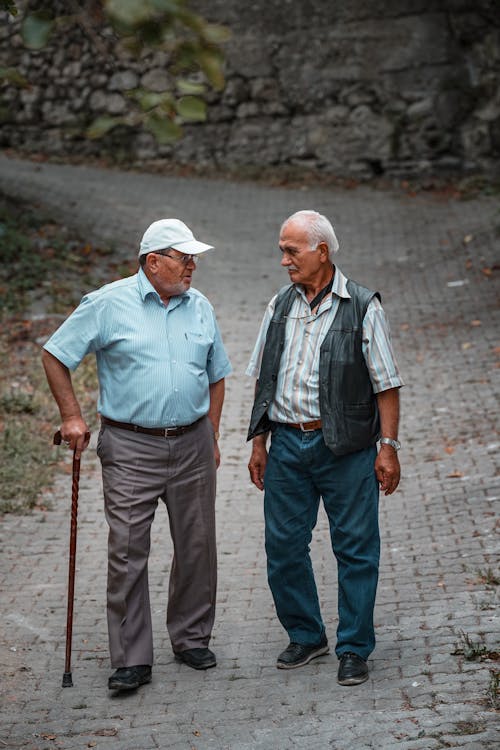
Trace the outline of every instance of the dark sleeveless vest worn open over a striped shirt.
[[[362, 350], [366, 309], [377, 292], [347, 282], [320, 349], [319, 409], [325, 443], [338, 456], [374, 445], [380, 437], [377, 400]], [[285, 342], [286, 316], [295, 298], [293, 284], [278, 293], [266, 336], [247, 440], [268, 432], [267, 410], [274, 399]]]

